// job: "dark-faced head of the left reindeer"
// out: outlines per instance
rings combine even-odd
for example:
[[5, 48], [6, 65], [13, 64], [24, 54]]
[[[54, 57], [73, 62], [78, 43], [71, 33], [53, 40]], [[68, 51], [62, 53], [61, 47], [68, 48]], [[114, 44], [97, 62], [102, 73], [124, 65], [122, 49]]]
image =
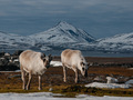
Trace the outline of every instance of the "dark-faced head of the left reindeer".
[[49, 68], [49, 67], [50, 67], [50, 62], [51, 62], [51, 60], [52, 60], [51, 54], [45, 56], [44, 53], [42, 53], [41, 59], [42, 59], [42, 61], [43, 61], [43, 63], [44, 63], [44, 67], [45, 67], [45, 68]]

